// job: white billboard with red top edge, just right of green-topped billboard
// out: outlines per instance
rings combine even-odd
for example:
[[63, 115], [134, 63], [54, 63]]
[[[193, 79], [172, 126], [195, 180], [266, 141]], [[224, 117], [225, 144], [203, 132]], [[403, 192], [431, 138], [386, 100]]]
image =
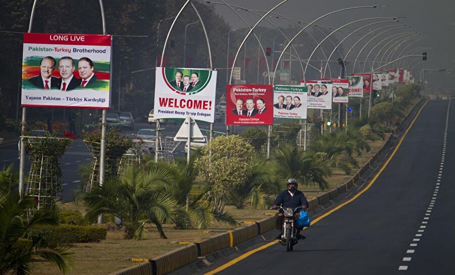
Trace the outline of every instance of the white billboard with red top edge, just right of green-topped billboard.
[[[300, 85], [305, 85], [303, 81]], [[307, 81], [308, 103], [310, 109], [332, 109], [332, 82], [331, 81]]]

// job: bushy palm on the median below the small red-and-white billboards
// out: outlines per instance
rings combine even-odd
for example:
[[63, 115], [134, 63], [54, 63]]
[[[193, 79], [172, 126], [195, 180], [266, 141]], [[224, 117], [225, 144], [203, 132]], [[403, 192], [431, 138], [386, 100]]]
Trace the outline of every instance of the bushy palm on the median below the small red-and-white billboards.
[[356, 142], [345, 133], [326, 133], [311, 145], [314, 152], [325, 153], [323, 160], [329, 167], [336, 167], [349, 175], [351, 169], [358, 167], [352, 158], [352, 152], [357, 149]]

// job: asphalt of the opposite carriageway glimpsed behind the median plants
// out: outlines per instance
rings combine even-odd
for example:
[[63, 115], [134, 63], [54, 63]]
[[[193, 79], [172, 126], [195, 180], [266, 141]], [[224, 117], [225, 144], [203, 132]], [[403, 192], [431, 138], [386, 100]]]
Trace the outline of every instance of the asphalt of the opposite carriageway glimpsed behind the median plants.
[[[161, 125], [164, 128], [163, 136], [175, 136], [178, 129], [180, 128], [183, 122], [178, 122], [176, 124], [168, 123], [165, 125]], [[199, 122], [198, 126], [200, 129], [209, 130], [210, 124]], [[128, 137], [134, 139], [134, 134], [139, 131], [139, 129], [155, 129], [155, 124], [148, 124], [148, 123], [136, 123], [134, 125], [134, 129], [132, 131], [124, 131]], [[246, 129], [246, 126], [239, 126], [236, 127], [235, 131], [242, 132]], [[265, 127], [263, 127], [265, 129]], [[216, 122], [214, 123], [213, 130], [216, 132], [224, 132], [226, 131], [226, 126], [224, 122]], [[204, 135], [209, 136], [208, 131], [202, 131]], [[219, 135], [219, 133], [215, 133], [214, 136]], [[185, 142], [181, 142], [180, 145], [174, 151], [174, 158], [178, 156], [184, 156]], [[18, 144], [7, 144], [7, 145], [0, 145], [0, 169], [3, 167], [10, 165], [11, 163], [14, 164], [14, 170], [19, 170], [19, 151], [18, 151]], [[62, 170], [62, 187], [63, 191], [61, 193], [62, 199], [64, 203], [74, 201], [73, 198], [73, 189], [78, 188], [80, 185], [80, 176], [77, 173], [78, 166], [83, 162], [89, 162], [92, 160], [90, 154], [88, 153], [87, 147], [83, 144], [81, 139], [76, 139], [71, 146], [65, 151], [65, 154], [62, 156], [60, 160], [60, 167]], [[30, 162], [29, 159], [26, 159], [26, 167], [25, 171], [29, 171], [30, 169]]]

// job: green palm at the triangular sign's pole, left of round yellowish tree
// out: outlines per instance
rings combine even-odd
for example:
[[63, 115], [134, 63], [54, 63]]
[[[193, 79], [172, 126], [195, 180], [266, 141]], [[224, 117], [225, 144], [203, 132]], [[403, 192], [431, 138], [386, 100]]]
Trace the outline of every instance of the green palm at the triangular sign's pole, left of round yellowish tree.
[[[149, 162], [146, 167], [166, 171], [174, 178], [173, 192], [171, 196], [177, 203], [177, 213], [174, 219], [175, 227], [184, 229], [195, 227], [198, 229], [207, 228], [214, 220], [230, 226], [236, 226], [238, 223], [229, 213], [220, 213], [211, 209], [208, 201], [205, 200], [207, 190], [200, 194], [190, 197], [190, 192], [196, 182], [198, 171], [194, 166], [194, 161], [199, 155], [195, 152], [190, 163], [184, 158], [178, 158], [172, 162]], [[188, 203], [188, 208], [187, 208]]]

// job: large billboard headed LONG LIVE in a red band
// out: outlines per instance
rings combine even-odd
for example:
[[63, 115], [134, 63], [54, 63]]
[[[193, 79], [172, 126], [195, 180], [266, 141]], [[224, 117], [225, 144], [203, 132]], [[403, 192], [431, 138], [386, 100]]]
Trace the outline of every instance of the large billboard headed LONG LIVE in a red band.
[[21, 106], [110, 106], [111, 36], [24, 33]]

